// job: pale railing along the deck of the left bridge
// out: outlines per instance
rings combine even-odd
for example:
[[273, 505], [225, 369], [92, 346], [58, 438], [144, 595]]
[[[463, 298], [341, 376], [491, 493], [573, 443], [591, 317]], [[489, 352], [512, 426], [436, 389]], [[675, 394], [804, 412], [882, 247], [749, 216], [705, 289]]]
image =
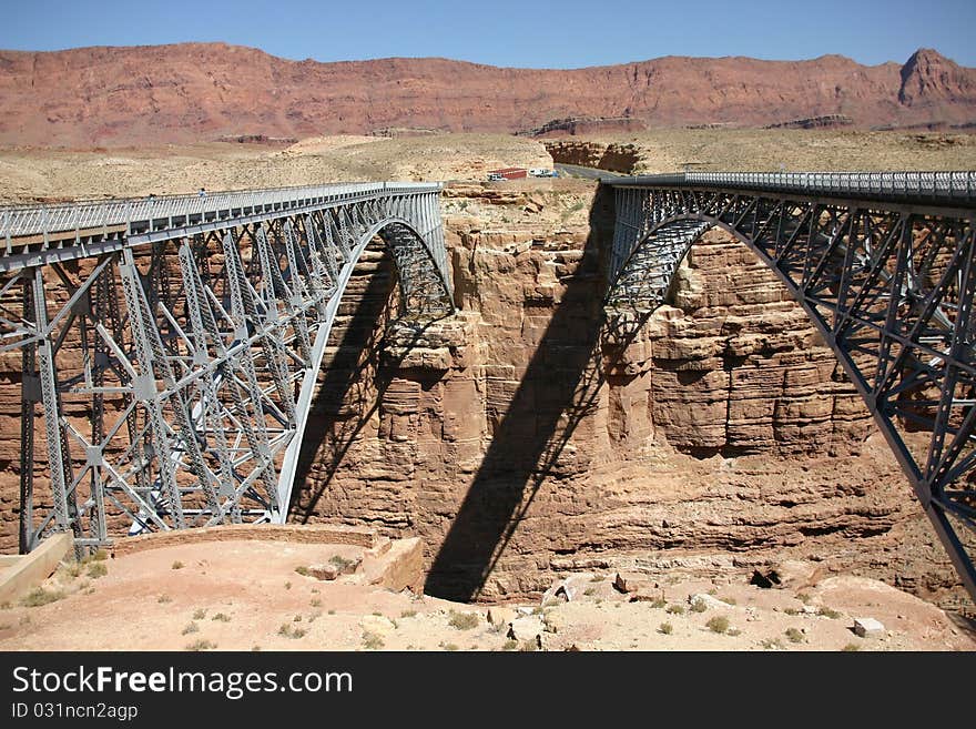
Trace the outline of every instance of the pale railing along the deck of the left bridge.
[[435, 192], [439, 183], [350, 183], [215, 192], [205, 195], [125, 198], [19, 207], [0, 206], [0, 254], [12, 252], [12, 239], [96, 229], [132, 232], [133, 224], [156, 220], [226, 220], [243, 214], [292, 210], [326, 202], [343, 202], [364, 195]]

